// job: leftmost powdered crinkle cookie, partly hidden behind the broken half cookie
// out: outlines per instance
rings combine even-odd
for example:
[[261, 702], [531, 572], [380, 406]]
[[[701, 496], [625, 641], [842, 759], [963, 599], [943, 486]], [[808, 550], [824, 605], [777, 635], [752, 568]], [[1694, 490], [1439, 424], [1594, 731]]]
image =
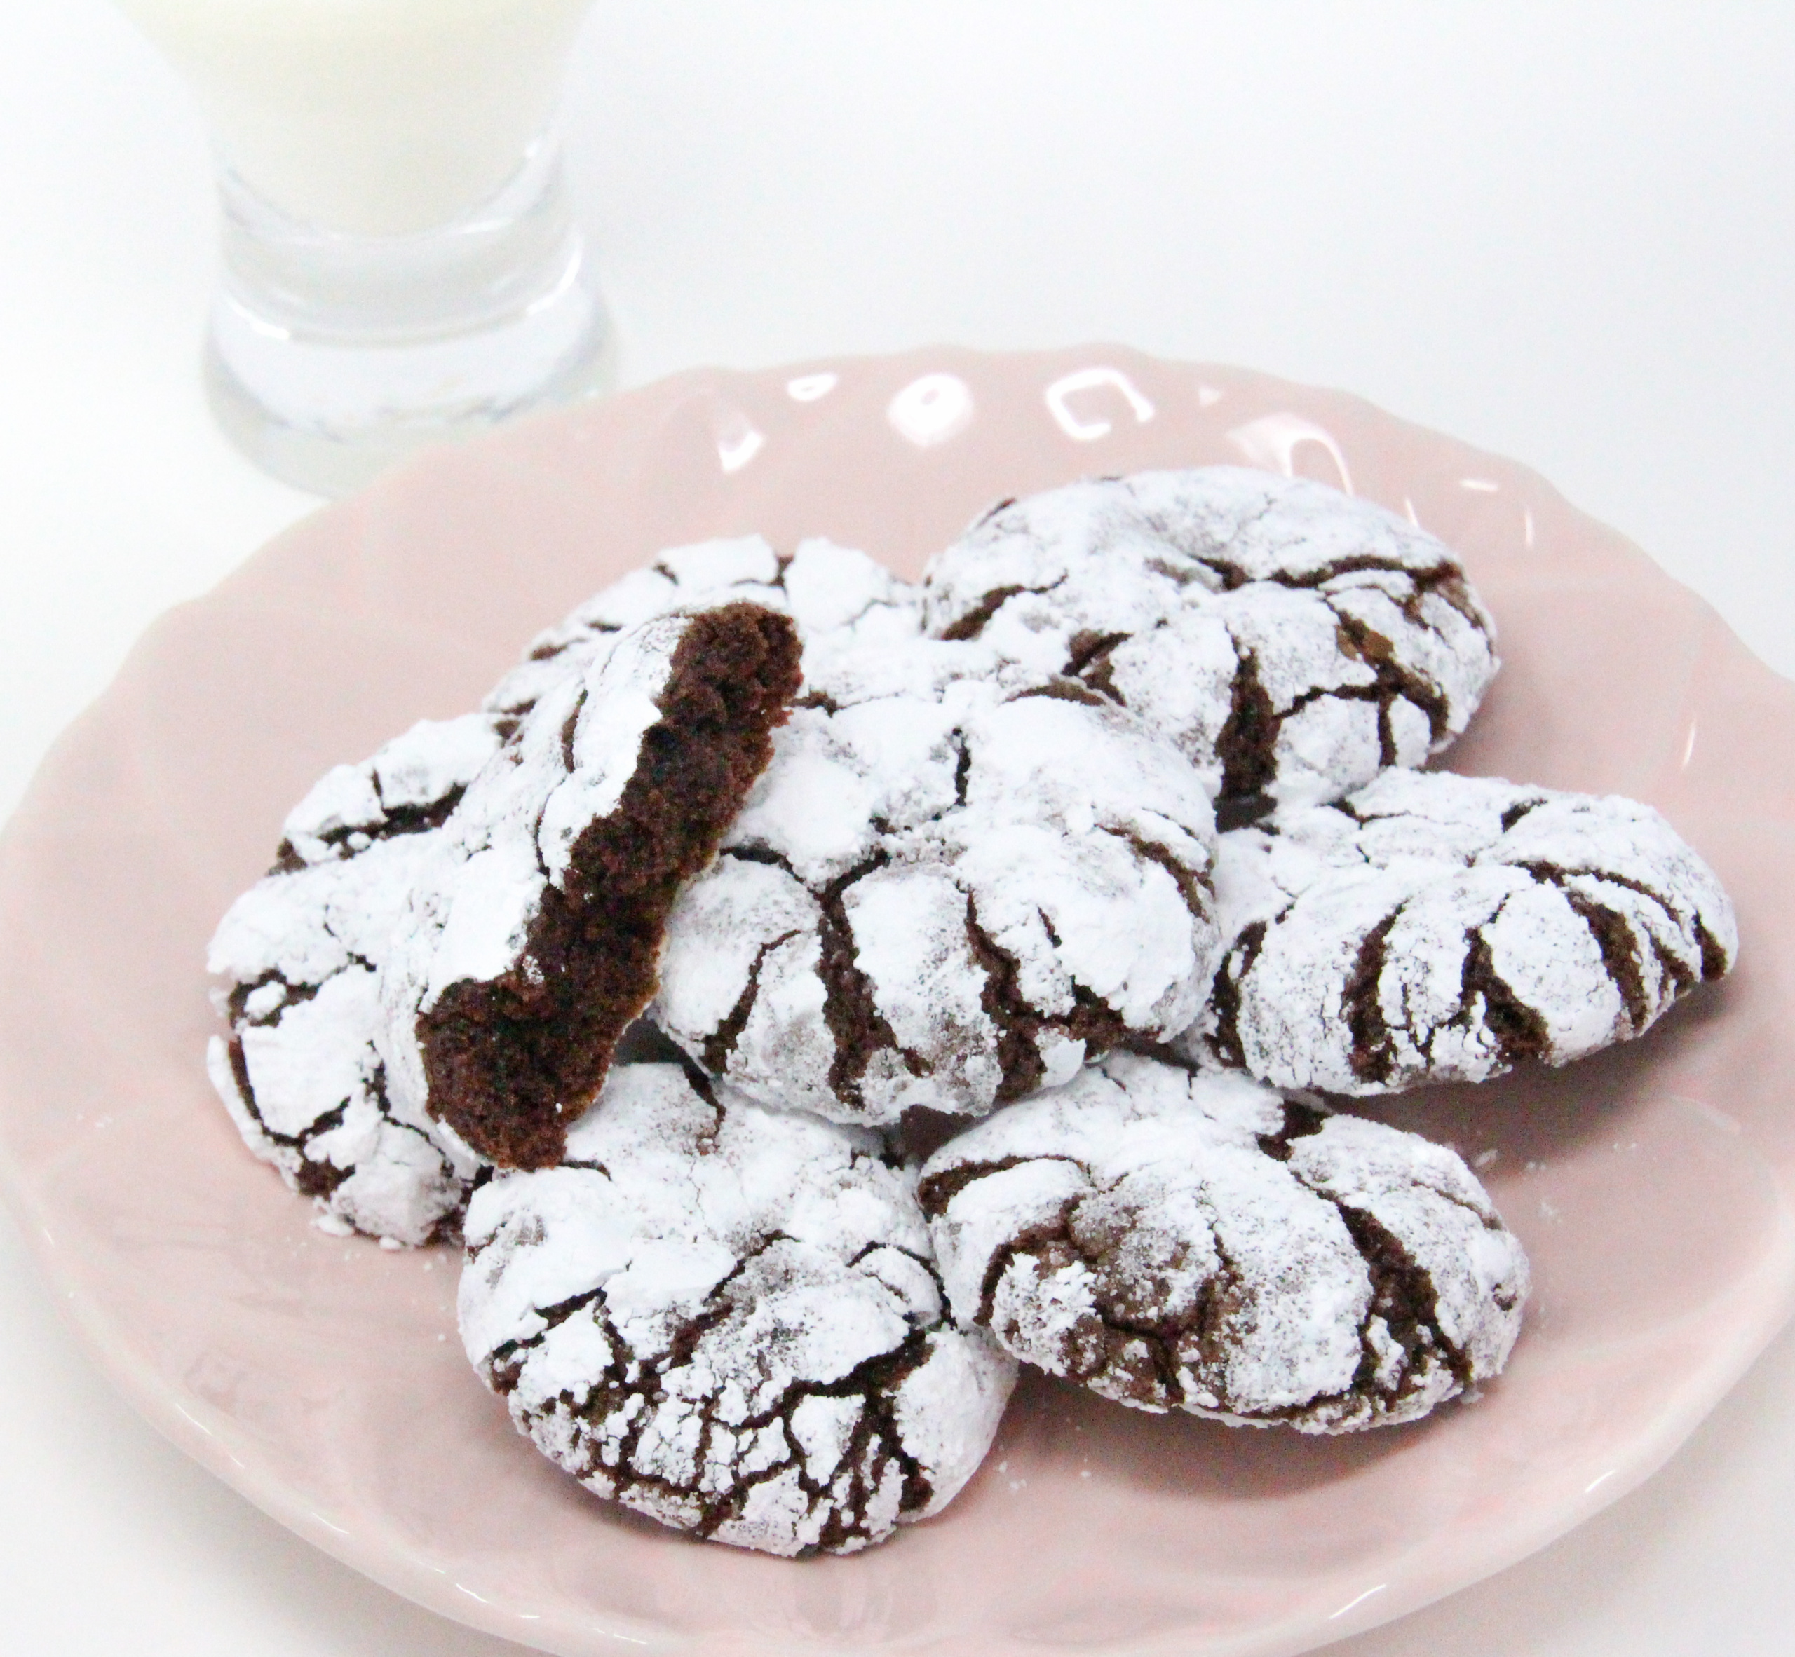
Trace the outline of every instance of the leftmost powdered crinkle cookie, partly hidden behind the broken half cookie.
[[504, 723], [424, 722], [339, 765], [284, 826], [278, 862], [228, 910], [206, 1068], [246, 1144], [330, 1230], [422, 1244], [454, 1230], [474, 1162], [397, 1100], [373, 1045], [377, 980], [431, 840]]

